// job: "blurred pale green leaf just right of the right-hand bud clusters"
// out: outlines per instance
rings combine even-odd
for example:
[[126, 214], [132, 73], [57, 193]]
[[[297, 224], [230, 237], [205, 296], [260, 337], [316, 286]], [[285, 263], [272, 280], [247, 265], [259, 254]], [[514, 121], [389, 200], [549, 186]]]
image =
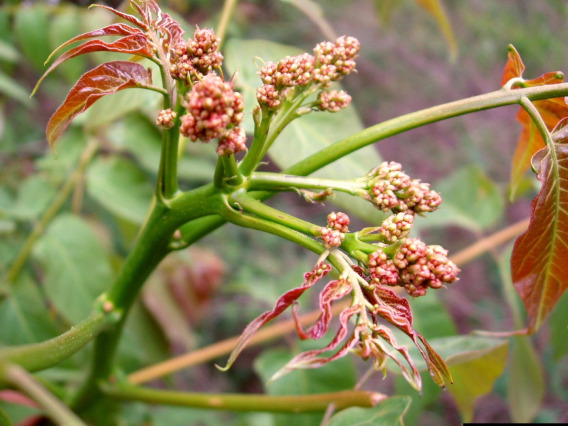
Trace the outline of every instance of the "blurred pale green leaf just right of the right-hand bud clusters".
[[428, 214], [428, 220], [416, 221], [419, 228], [457, 225], [482, 231], [494, 226], [503, 214], [503, 196], [479, 166], [462, 167], [432, 188], [442, 194], [444, 202]]

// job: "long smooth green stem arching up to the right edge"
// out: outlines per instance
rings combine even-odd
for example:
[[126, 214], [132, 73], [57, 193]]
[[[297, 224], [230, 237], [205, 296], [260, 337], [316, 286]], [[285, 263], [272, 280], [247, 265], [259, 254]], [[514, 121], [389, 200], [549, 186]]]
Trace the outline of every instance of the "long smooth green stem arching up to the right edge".
[[294, 175], [309, 175], [346, 155], [381, 141], [390, 136], [435, 123], [459, 115], [470, 114], [505, 105], [520, 104], [526, 97], [531, 101], [568, 96], [568, 83], [535, 86], [524, 89], [500, 89], [484, 95], [461, 99], [454, 102], [402, 115], [368, 127], [352, 136], [337, 141], [315, 154], [304, 158], [284, 172]]

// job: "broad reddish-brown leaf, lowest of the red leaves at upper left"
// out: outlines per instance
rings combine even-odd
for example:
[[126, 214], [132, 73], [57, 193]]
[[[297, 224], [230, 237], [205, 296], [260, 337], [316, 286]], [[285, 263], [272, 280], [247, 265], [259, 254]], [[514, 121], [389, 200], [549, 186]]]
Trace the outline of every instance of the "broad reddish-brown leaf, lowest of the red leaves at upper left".
[[147, 87], [151, 83], [150, 71], [134, 62], [107, 62], [87, 71], [47, 123], [48, 142], [53, 146], [71, 120], [103, 96], [123, 89]]

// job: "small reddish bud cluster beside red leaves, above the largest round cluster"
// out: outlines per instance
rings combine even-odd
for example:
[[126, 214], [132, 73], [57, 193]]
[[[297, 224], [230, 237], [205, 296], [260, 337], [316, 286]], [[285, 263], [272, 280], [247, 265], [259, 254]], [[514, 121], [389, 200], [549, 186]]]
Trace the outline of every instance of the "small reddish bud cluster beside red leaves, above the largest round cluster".
[[219, 39], [211, 29], [197, 28], [192, 40], [178, 43], [170, 57], [173, 78], [194, 81], [221, 67], [223, 55], [217, 51]]

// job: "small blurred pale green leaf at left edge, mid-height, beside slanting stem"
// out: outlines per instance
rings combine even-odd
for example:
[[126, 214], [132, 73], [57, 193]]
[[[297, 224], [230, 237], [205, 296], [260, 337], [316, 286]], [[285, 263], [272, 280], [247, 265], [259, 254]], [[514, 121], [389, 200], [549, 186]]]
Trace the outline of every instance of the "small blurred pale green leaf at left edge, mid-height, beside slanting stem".
[[56, 190], [46, 179], [37, 174], [26, 179], [11, 206], [0, 207], [0, 212], [19, 220], [38, 218], [55, 196]]

